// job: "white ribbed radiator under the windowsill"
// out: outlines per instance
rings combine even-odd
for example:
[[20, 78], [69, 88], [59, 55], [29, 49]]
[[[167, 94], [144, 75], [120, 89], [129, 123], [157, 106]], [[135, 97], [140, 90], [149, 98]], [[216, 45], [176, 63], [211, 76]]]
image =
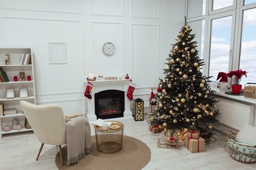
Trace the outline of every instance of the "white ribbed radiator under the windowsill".
[[215, 97], [219, 100], [217, 110], [219, 109], [219, 116], [217, 120], [234, 129], [240, 130], [244, 124], [253, 125], [254, 105], [245, 105], [235, 101], [226, 100]]

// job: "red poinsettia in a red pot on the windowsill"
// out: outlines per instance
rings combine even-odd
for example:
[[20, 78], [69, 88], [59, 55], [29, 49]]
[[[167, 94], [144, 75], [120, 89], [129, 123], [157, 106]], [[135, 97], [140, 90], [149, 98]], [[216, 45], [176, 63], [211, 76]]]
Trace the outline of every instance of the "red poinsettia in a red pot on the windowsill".
[[242, 85], [239, 84], [240, 81], [242, 80], [242, 76], [246, 75], [246, 71], [242, 71], [242, 69], [238, 69], [237, 71], [230, 71], [228, 74], [226, 74], [226, 76], [230, 77], [234, 84], [232, 84], [232, 93], [233, 94], [240, 94], [241, 90], [242, 90]]

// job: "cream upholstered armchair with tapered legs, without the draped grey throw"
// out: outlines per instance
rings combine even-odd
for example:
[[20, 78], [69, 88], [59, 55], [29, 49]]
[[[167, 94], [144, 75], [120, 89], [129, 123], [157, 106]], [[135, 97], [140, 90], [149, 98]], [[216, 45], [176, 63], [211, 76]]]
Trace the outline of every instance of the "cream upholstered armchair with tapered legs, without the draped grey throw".
[[67, 140], [66, 120], [62, 108], [58, 105], [33, 105], [27, 101], [20, 101], [20, 107], [38, 141], [42, 143], [36, 160], [39, 158], [43, 144], [53, 144], [58, 146], [60, 159], [64, 165], [61, 145], [66, 144]]

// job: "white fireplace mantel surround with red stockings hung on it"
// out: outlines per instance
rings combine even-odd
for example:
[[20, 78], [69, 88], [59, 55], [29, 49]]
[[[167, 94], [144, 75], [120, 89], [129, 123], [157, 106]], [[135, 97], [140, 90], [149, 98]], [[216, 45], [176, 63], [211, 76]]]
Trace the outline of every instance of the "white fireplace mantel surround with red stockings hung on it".
[[[90, 84], [93, 84], [91, 90], [92, 99], [87, 99], [87, 118], [90, 123], [96, 121], [95, 115], [95, 93], [102, 92], [104, 90], [120, 90], [125, 92], [125, 110], [123, 112], [123, 117], [121, 118], [112, 118], [111, 120], [118, 120], [121, 122], [133, 121], [133, 116], [131, 113], [131, 101], [127, 98], [127, 90], [130, 84], [130, 80], [95, 80], [89, 81]], [[84, 81], [85, 88], [88, 84], [88, 81]]]

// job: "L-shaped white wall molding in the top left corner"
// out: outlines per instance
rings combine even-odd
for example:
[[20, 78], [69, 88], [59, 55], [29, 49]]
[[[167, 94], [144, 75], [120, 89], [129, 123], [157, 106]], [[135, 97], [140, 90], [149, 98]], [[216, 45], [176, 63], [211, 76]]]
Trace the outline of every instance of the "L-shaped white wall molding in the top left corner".
[[3, 10], [22, 10], [27, 12], [50, 12], [50, 13], [60, 13], [60, 14], [83, 14], [83, 0], [79, 1], [80, 11], [79, 12], [68, 12], [62, 10], [37, 10], [37, 9], [24, 9], [24, 8], [12, 8], [12, 7], [0, 7]]

